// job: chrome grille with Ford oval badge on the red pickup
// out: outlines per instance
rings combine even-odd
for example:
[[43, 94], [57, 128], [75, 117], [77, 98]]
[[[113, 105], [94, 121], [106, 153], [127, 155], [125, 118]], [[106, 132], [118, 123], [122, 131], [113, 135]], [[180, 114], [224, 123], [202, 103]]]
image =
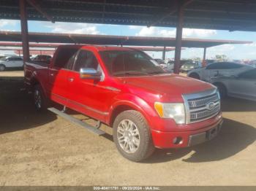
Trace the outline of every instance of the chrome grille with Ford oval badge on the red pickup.
[[214, 117], [220, 111], [220, 100], [217, 90], [183, 95], [187, 123], [199, 122]]

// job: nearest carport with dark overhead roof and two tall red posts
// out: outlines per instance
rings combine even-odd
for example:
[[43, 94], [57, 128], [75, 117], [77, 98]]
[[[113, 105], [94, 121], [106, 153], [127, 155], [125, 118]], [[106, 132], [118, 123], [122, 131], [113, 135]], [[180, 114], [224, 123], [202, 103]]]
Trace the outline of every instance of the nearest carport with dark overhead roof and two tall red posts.
[[176, 27], [175, 69], [181, 58], [182, 29], [256, 31], [254, 0], [3, 0], [0, 18], [20, 19], [25, 61], [29, 20]]

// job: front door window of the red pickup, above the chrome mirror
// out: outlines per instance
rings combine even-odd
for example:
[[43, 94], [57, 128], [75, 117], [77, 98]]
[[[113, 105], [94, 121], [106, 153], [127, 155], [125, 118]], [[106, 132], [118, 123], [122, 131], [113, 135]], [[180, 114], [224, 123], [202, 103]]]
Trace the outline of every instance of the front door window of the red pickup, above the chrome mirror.
[[94, 53], [87, 50], [80, 50], [77, 60], [75, 61], [75, 71], [80, 71], [81, 68], [93, 68], [99, 70], [99, 63]]

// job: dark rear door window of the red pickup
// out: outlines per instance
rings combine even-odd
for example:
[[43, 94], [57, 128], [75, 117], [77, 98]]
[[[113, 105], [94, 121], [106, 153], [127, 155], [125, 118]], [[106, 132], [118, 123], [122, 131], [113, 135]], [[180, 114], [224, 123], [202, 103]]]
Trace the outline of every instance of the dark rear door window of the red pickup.
[[75, 60], [75, 55], [78, 52], [78, 48], [65, 47], [59, 50], [57, 58], [55, 60], [54, 66], [61, 69], [72, 69], [73, 61]]

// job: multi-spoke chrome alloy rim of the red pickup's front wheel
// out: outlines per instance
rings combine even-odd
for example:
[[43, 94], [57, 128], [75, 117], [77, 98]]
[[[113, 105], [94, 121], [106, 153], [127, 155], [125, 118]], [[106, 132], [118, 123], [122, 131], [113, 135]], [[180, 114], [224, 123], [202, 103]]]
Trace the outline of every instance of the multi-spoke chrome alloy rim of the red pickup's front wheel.
[[127, 153], [135, 153], [140, 146], [140, 133], [134, 122], [122, 120], [117, 127], [117, 139], [120, 147]]

